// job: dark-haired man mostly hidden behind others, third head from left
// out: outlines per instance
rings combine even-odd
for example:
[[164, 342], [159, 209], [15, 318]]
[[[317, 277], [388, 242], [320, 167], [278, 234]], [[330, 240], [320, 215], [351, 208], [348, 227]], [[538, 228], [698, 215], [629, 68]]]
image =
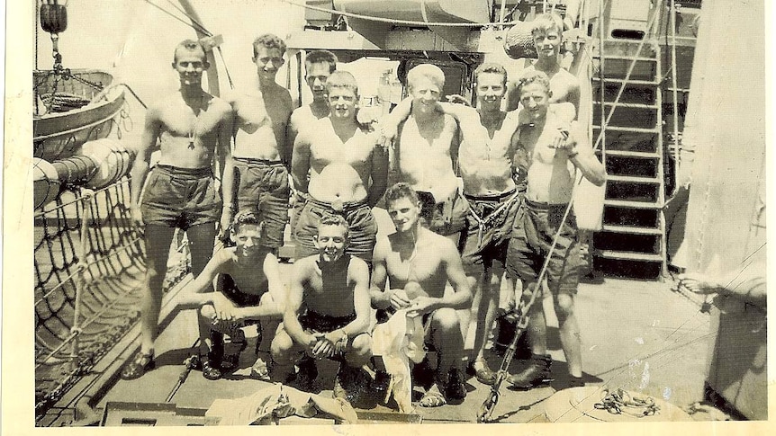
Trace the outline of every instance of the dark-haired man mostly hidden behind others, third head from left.
[[[312, 50], [304, 59], [304, 80], [310, 87], [312, 102], [293, 110], [288, 122], [288, 143], [293, 146], [302, 127], [310, 126], [315, 120], [329, 116], [329, 99], [326, 98], [326, 81], [337, 69], [337, 56], [329, 50]], [[291, 229], [296, 227], [296, 218], [304, 206], [303, 195], [293, 199]]]

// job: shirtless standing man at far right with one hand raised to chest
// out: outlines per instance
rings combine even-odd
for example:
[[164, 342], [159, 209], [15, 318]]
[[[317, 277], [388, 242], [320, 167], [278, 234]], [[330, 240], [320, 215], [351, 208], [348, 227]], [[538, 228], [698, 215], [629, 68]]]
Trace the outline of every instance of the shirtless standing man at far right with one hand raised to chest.
[[[512, 229], [507, 269], [522, 281], [524, 295], [530, 293], [537, 286], [537, 275], [553, 238], [562, 228], [546, 278], [555, 297], [569, 384], [582, 386], [580, 332], [573, 311], [573, 295], [579, 283], [579, 244], [573, 211], [563, 223], [561, 219], [572, 200], [576, 170], [597, 186], [606, 181], [606, 171], [576, 122], [570, 124], [566, 140], [555, 140], [558, 129], [564, 129], [571, 120], [563, 120], [556, 111], [547, 111], [552, 92], [546, 74], [533, 71], [523, 76], [519, 95], [523, 109], [519, 111], [518, 136], [528, 168], [527, 190]], [[507, 379], [515, 387], [535, 386], [549, 375], [552, 360], [546, 355], [546, 319], [540, 298], [536, 301], [528, 312], [533, 355], [527, 369]]]

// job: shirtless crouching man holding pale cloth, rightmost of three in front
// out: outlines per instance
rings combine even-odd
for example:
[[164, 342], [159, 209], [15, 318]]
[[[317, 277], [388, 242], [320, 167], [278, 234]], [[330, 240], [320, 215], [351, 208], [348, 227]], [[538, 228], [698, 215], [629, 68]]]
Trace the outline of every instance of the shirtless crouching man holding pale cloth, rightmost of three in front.
[[[385, 192], [385, 207], [396, 233], [374, 246], [372, 306], [388, 311], [409, 308], [409, 315], [423, 316], [426, 342], [439, 358], [435, 380], [420, 405], [462, 400], [466, 389], [459, 367], [464, 336], [456, 310], [470, 307], [472, 292], [461, 256], [447, 237], [420, 226], [420, 200], [407, 183], [396, 183]], [[446, 292], [447, 281], [452, 289]]]

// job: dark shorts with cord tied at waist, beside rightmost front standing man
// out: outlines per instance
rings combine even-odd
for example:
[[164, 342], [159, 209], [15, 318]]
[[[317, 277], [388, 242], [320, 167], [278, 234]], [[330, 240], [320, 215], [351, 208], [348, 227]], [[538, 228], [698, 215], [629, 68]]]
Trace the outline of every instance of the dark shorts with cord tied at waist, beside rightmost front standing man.
[[464, 264], [505, 263], [522, 194], [513, 190], [487, 197], [467, 195], [466, 200], [469, 202], [469, 215], [462, 236]]

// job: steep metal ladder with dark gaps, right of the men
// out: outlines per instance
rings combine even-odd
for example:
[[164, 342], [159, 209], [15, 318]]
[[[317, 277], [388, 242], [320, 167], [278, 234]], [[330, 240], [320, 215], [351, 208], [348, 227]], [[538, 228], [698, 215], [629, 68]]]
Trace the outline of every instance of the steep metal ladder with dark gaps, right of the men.
[[605, 122], [596, 153], [608, 174], [603, 226], [593, 238], [596, 268], [658, 278], [666, 269], [660, 49], [656, 40], [607, 39], [602, 45], [594, 59], [599, 66], [602, 60], [603, 74], [591, 79], [592, 138]]

